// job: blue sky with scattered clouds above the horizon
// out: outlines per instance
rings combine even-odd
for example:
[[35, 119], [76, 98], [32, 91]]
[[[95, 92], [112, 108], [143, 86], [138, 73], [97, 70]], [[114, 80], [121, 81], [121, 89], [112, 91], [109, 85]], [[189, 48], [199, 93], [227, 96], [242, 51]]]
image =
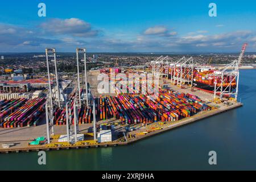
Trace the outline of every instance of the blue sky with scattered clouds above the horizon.
[[[46, 4], [46, 17], [38, 4]], [[217, 17], [208, 15], [209, 3]], [[1, 1], [0, 52], [229, 52], [256, 49], [251, 1]]]

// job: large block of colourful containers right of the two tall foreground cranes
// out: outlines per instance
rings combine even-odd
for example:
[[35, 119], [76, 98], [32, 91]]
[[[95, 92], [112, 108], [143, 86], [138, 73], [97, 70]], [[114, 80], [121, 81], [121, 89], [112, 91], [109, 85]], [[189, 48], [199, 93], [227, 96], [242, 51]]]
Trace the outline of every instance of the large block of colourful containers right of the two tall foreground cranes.
[[192, 94], [160, 90], [159, 97], [122, 94], [100, 97], [100, 119], [114, 117], [127, 124], [177, 121], [200, 110], [209, 110], [199, 97]]

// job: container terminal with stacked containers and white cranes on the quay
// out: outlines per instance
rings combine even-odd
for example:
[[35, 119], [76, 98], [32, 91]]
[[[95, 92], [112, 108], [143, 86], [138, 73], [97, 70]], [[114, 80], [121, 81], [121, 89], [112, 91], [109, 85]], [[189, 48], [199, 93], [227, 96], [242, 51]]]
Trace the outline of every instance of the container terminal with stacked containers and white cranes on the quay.
[[218, 69], [193, 57], [160, 56], [134, 68], [91, 71], [86, 49], [77, 48], [77, 74], [65, 79], [55, 48], [46, 48], [46, 77], [0, 82], [0, 152], [124, 145], [240, 107], [246, 46]]

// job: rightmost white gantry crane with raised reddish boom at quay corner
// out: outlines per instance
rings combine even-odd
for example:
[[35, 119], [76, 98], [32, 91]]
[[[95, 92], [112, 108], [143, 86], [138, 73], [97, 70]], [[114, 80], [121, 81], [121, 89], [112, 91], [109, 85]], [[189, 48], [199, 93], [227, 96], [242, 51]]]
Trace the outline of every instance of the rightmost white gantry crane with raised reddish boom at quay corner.
[[[214, 99], [216, 98], [216, 94], [220, 94], [220, 99], [223, 98], [224, 94], [234, 96], [237, 101], [238, 96], [238, 85], [239, 85], [239, 68], [245, 53], [247, 43], [243, 44], [242, 50], [240, 52], [240, 56], [237, 60], [234, 60], [232, 63], [226, 65], [224, 68], [214, 73]], [[221, 82], [217, 86], [217, 77], [221, 77]], [[229, 78], [229, 79], [228, 79]], [[236, 89], [232, 88], [236, 82]], [[233, 84], [233, 85], [232, 85]], [[220, 90], [220, 91], [217, 91]], [[234, 92], [235, 91], [235, 92]]]

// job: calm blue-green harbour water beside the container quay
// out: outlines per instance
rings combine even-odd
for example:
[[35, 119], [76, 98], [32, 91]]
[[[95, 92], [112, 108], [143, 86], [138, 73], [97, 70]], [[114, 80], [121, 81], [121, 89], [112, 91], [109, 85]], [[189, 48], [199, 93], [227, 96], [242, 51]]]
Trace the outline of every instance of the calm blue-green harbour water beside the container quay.
[[255, 170], [256, 69], [241, 70], [239, 88], [238, 109], [127, 146], [46, 151], [41, 166], [38, 152], [0, 154], [0, 170]]

